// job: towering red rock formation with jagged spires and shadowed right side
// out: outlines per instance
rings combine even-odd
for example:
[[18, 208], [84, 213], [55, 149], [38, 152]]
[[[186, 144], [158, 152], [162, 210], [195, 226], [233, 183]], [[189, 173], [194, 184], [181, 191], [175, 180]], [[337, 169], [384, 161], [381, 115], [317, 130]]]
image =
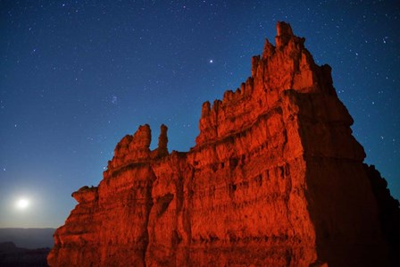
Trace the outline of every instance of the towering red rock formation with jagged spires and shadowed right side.
[[203, 104], [189, 152], [168, 153], [165, 126], [154, 151], [148, 125], [121, 139], [100, 185], [72, 194], [51, 266], [397, 263], [398, 202], [362, 163], [330, 67], [277, 28], [252, 77]]

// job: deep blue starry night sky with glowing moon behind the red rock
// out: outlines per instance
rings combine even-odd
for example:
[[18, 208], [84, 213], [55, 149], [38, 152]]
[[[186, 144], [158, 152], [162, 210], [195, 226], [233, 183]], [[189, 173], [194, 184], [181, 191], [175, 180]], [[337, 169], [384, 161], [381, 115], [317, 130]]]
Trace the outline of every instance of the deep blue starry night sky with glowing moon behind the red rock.
[[399, 5], [0, 0], [0, 228], [62, 225], [141, 124], [152, 148], [162, 123], [170, 151], [195, 146], [202, 103], [251, 75], [277, 21], [332, 67], [366, 163], [400, 198]]

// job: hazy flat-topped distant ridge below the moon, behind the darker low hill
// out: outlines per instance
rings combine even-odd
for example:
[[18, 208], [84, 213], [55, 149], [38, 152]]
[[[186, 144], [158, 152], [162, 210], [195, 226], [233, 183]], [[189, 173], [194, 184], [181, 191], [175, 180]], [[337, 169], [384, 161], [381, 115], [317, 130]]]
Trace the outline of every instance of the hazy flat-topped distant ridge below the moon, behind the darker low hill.
[[0, 243], [12, 242], [18, 247], [53, 247], [54, 228], [0, 228]]

